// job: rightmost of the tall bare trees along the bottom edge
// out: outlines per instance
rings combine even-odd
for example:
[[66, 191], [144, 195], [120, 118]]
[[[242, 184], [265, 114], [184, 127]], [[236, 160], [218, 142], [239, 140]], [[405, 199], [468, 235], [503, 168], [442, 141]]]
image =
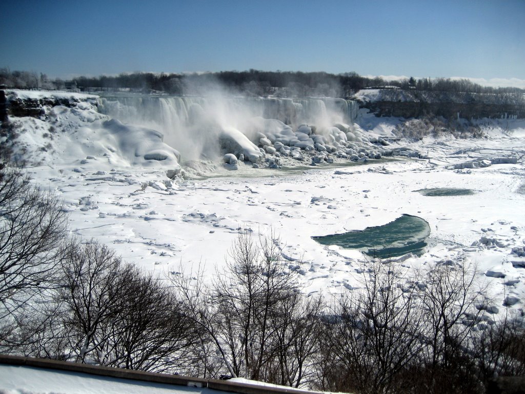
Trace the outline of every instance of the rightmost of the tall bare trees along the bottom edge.
[[431, 266], [421, 278], [424, 352], [418, 376], [426, 392], [476, 392], [472, 328], [479, 322], [481, 288], [465, 258]]

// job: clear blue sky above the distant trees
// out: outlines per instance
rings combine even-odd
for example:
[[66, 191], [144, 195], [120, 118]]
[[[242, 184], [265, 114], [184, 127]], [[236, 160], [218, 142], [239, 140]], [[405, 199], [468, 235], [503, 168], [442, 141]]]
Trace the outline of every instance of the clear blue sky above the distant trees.
[[1, 0], [0, 67], [525, 80], [525, 0]]

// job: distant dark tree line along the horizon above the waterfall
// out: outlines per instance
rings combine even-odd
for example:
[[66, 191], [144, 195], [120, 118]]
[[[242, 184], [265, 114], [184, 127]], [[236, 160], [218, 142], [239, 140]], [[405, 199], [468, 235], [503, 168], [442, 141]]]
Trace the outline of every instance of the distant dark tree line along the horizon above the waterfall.
[[71, 80], [50, 80], [45, 74], [0, 69], [0, 85], [19, 89], [118, 90], [165, 92], [172, 95], [202, 94], [209, 82], [220, 82], [226, 89], [251, 96], [283, 97], [349, 97], [366, 88], [400, 88], [421, 91], [443, 91], [481, 94], [525, 94], [524, 89], [484, 87], [468, 79], [413, 77], [386, 81], [380, 77], [363, 77], [356, 72], [329, 74], [302, 71], [220, 71], [192, 74], [161, 72], [122, 73], [117, 76], [76, 77]]

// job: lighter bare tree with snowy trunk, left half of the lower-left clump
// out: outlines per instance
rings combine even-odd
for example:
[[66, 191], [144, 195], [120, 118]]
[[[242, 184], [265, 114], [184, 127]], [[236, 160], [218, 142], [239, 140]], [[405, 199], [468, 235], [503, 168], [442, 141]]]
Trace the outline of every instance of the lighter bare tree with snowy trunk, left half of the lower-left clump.
[[57, 302], [64, 306], [64, 327], [78, 362], [106, 365], [114, 316], [124, 308], [122, 294], [133, 277], [133, 268], [122, 265], [107, 246], [95, 241], [71, 241], [62, 250], [63, 285]]

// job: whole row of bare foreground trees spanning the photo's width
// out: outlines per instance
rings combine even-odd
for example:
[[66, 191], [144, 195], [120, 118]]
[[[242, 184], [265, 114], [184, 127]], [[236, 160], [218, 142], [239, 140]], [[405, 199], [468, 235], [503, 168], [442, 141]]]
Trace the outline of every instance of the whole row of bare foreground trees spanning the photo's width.
[[525, 374], [523, 311], [493, 318], [461, 258], [412, 277], [365, 262], [359, 288], [325, 299], [301, 291], [273, 235], [240, 233], [204, 283], [142, 272], [66, 223], [54, 194], [0, 168], [0, 351], [374, 394], [484, 393]]

